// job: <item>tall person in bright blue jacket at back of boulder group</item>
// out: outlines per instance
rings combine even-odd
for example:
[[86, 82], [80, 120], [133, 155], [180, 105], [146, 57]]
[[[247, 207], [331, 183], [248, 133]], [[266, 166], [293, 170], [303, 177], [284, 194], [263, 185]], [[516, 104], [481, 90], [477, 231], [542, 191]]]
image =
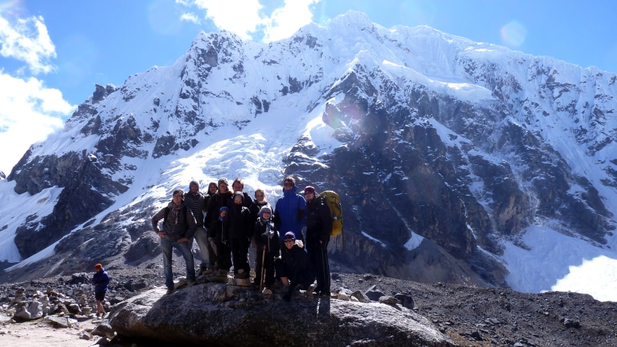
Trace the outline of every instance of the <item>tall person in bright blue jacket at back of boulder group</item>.
[[[296, 194], [295, 179], [291, 176], [283, 180], [283, 196], [276, 201], [274, 207], [274, 224], [276, 230], [292, 231], [296, 240], [304, 242], [303, 229], [306, 223], [306, 200]], [[281, 245], [285, 243], [285, 235], [280, 235]], [[281, 247], [282, 249], [282, 247]]]

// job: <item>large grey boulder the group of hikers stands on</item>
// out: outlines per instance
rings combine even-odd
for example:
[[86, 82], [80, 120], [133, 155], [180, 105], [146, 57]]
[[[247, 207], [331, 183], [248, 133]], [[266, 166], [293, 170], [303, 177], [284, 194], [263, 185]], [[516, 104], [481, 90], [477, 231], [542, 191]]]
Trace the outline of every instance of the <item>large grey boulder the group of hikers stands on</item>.
[[221, 283], [134, 296], [114, 308], [110, 325], [129, 339], [204, 346], [455, 346], [400, 305], [302, 296], [287, 303]]

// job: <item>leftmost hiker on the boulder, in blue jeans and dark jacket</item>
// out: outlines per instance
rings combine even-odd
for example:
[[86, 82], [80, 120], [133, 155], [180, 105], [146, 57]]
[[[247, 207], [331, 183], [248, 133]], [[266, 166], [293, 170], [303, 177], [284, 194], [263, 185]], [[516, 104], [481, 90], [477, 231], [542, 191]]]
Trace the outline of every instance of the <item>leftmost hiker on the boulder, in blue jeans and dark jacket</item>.
[[[195, 261], [188, 241], [195, 235], [197, 222], [195, 222], [191, 209], [184, 206], [184, 191], [176, 189], [171, 196], [171, 203], [152, 217], [152, 229], [160, 237], [167, 294], [173, 293], [173, 272], [171, 271], [173, 248], [182, 253], [186, 263], [186, 281], [189, 281], [189, 285], [195, 284]], [[163, 220], [162, 231], [158, 229], [159, 220]]]

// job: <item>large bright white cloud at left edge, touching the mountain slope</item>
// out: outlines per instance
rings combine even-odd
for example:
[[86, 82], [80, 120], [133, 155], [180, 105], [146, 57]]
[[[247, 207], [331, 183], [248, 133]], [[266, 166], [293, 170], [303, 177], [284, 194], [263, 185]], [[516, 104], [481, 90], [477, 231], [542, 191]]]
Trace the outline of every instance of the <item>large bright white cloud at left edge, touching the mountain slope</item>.
[[60, 90], [45, 88], [34, 77], [19, 79], [2, 70], [0, 105], [0, 170], [7, 175], [31, 144], [62, 129], [62, 117], [74, 109]]

